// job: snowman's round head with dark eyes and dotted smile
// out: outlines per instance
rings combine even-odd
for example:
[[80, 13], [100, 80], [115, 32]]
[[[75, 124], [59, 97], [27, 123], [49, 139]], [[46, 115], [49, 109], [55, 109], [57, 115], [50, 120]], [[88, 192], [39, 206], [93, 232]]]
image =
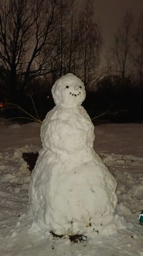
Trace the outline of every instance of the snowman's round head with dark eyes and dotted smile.
[[85, 86], [74, 74], [66, 74], [55, 82], [52, 95], [56, 105], [80, 105], [85, 100]]

